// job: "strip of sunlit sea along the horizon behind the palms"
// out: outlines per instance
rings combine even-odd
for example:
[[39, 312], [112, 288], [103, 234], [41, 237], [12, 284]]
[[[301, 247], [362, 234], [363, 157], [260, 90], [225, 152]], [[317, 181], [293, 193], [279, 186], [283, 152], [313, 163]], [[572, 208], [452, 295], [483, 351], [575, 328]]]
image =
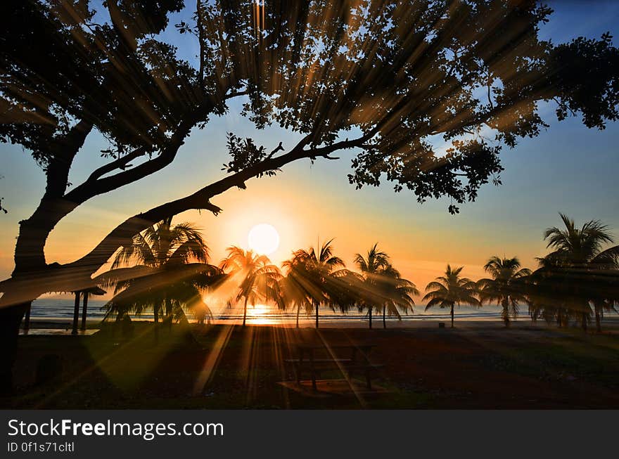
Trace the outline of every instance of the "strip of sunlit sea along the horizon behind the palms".
[[[103, 305], [106, 301], [100, 299], [89, 299], [87, 316], [89, 321], [101, 321], [106, 315]], [[30, 311], [31, 318], [37, 319], [62, 319], [71, 321], [73, 318], [74, 300], [44, 298], [37, 299], [32, 302]], [[449, 309], [430, 309], [424, 311], [425, 306], [416, 306], [414, 311], [409, 314], [402, 314], [402, 321], [440, 321], [449, 320]], [[79, 313], [82, 313], [82, 304], [79, 305]], [[228, 309], [222, 308], [212, 311], [217, 322], [238, 321], [243, 318], [243, 310], [240, 308]], [[319, 311], [321, 321], [368, 321], [366, 314], [358, 313], [357, 311], [347, 314], [334, 313], [331, 309], [321, 308]], [[528, 318], [526, 306], [519, 314], [519, 317]], [[132, 316], [134, 320], [153, 320], [152, 313], [143, 313], [139, 316]], [[191, 313], [188, 313], [188, 318], [192, 321]], [[296, 311], [279, 311], [267, 306], [248, 306], [248, 321], [250, 323], [278, 323], [278, 322], [294, 322]], [[475, 306], [456, 306], [455, 318], [461, 320], [499, 320], [501, 318], [500, 308], [498, 306], [483, 306], [477, 308]], [[375, 321], [382, 321], [382, 316], [374, 315]], [[395, 317], [387, 317], [388, 321], [397, 321]], [[300, 321], [314, 321], [314, 316], [307, 316], [305, 313], [300, 314]]]

